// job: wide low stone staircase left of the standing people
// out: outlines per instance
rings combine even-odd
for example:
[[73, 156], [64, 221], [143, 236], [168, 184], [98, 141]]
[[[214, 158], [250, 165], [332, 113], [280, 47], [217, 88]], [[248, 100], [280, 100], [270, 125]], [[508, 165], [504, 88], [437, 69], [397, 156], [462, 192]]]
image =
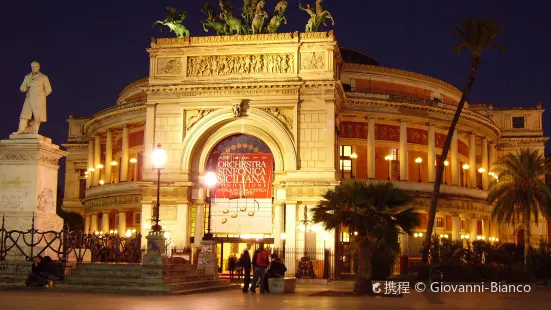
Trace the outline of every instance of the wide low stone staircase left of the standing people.
[[217, 276], [205, 275], [195, 265], [168, 265], [162, 280], [143, 276], [141, 264], [78, 263], [65, 281], [56, 282], [60, 290], [131, 294], [191, 294], [236, 289], [239, 285]]

